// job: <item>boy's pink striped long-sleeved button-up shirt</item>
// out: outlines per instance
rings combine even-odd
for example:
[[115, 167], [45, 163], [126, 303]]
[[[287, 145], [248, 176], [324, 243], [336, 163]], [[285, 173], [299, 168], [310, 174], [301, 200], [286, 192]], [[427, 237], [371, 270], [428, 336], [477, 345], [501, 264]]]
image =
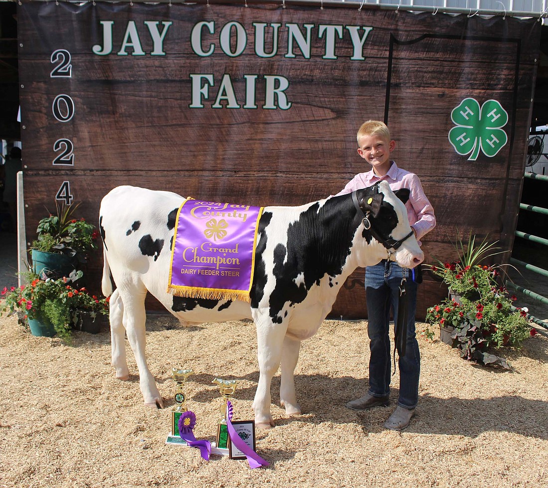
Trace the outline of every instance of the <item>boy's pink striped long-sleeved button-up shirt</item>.
[[407, 217], [409, 218], [409, 224], [416, 231], [417, 240], [435, 228], [436, 217], [434, 209], [424, 194], [423, 185], [421, 185], [419, 177], [415, 173], [398, 168], [394, 161], [392, 161], [392, 166], [384, 176], [377, 176], [373, 172], [373, 169], [366, 173], [358, 173], [337, 195], [345, 195], [383, 180], [388, 181], [392, 190], [399, 190], [400, 188], [408, 188], [410, 190], [409, 200], [406, 203]]

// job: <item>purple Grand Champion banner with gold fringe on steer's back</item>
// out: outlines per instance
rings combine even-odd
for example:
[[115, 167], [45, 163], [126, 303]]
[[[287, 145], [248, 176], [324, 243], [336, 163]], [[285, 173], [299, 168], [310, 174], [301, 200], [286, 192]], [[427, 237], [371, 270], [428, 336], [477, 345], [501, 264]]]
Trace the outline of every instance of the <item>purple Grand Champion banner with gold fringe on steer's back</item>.
[[175, 225], [168, 293], [249, 302], [262, 209], [183, 202]]

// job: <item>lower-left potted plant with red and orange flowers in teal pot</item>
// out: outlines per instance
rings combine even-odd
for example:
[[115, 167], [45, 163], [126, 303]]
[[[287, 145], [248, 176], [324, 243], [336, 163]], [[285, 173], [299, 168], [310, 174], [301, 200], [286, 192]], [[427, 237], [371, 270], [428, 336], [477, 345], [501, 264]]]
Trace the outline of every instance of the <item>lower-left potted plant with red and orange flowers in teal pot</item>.
[[0, 315], [18, 314], [20, 323], [30, 328], [33, 336], [68, 338], [81, 310], [108, 314], [107, 298], [98, 299], [85, 288], [71, 285], [81, 276], [82, 271], [56, 280], [33, 275], [28, 285], [9, 290], [4, 287], [0, 292], [4, 298]]

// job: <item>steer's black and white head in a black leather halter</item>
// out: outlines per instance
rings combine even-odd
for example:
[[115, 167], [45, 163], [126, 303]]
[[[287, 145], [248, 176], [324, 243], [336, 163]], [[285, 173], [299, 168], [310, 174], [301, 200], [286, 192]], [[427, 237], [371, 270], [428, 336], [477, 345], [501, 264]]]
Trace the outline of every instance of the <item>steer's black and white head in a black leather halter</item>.
[[393, 192], [386, 181], [357, 190], [352, 198], [359, 206], [362, 217], [363, 237], [368, 243], [374, 241], [375, 251], [367, 253], [372, 263], [381, 259], [395, 260], [404, 268], [414, 268], [423, 262], [424, 253], [416, 242], [413, 230], [407, 218], [404, 205], [409, 199], [409, 190], [401, 189]]

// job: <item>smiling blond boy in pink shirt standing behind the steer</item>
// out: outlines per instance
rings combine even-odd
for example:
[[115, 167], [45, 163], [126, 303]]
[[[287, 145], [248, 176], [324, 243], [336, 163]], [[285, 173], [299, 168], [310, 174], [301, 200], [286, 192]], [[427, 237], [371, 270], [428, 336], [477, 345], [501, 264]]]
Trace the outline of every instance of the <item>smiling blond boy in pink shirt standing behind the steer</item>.
[[[357, 133], [358, 154], [372, 169], [357, 174], [338, 195], [350, 193], [359, 188], [371, 186], [377, 181], [388, 181], [392, 190], [408, 188], [409, 201], [406, 203], [409, 223], [420, 245], [420, 238], [436, 225], [436, 217], [431, 203], [424, 194], [419, 177], [398, 168], [390, 160], [390, 153], [396, 142], [390, 139], [390, 131], [383, 122], [367, 121]], [[417, 283], [412, 274], [397, 263], [383, 259], [375, 266], [366, 268], [366, 298], [368, 311], [367, 334], [369, 336], [369, 391], [366, 395], [346, 404], [352, 410], [366, 410], [390, 403], [390, 308], [394, 322], [397, 321], [399, 285], [402, 277], [407, 277], [408, 324], [406, 354], [399, 358], [399, 398], [396, 410], [385, 422], [384, 427], [402, 430], [409, 425], [419, 400], [420, 353], [415, 337], [415, 310]]]

